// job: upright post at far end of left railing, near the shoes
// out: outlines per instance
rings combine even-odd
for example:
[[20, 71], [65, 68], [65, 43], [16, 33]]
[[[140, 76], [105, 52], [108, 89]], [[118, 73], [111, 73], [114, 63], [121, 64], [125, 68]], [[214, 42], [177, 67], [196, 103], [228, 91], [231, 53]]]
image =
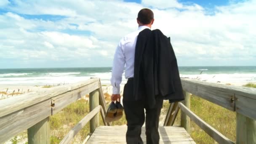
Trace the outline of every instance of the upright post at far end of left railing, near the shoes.
[[[89, 94], [90, 112], [99, 106], [99, 91], [95, 90]], [[90, 120], [90, 133], [99, 126], [99, 113]]]

